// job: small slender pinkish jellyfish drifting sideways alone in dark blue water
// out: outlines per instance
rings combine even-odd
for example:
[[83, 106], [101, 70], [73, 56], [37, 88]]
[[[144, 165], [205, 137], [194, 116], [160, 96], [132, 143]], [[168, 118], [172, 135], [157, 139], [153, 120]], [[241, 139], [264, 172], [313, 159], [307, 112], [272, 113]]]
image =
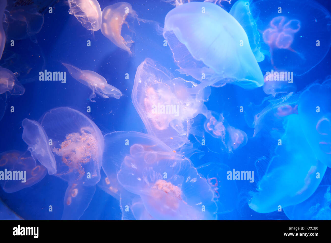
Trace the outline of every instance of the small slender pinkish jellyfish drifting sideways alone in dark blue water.
[[69, 71], [70, 75], [78, 82], [89, 87], [93, 92], [90, 95], [90, 101], [95, 98], [95, 93], [102, 98], [114, 97], [119, 99], [122, 93], [114, 86], [107, 83], [107, 80], [96, 72], [90, 70], [80, 70], [78, 67], [62, 63]]

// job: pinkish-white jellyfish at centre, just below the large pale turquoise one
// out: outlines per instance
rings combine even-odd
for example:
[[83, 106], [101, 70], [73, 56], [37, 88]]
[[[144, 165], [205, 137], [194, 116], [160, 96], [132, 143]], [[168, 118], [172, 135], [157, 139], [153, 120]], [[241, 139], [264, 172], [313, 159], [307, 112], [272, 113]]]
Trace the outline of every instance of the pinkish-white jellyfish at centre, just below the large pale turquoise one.
[[[192, 118], [207, 115], [204, 101], [210, 89], [192, 94], [196, 83], [173, 76], [151, 59], [137, 68], [132, 89], [132, 102], [147, 132], [173, 150], [188, 143]], [[192, 92], [191, 92], [192, 91]]]

